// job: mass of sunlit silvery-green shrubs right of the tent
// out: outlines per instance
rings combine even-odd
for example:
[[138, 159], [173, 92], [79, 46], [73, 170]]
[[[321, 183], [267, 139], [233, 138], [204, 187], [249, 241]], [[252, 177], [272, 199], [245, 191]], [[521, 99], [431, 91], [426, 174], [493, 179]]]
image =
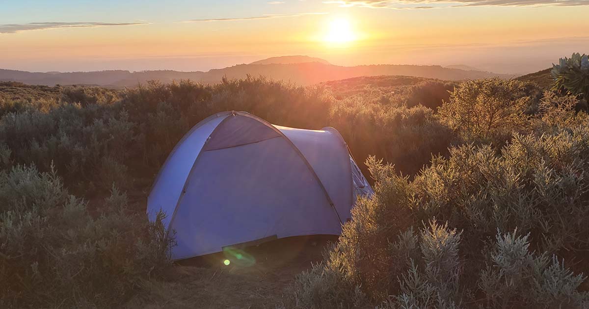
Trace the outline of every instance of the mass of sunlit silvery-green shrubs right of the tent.
[[412, 178], [370, 157], [374, 197], [357, 202], [284, 306], [589, 306], [589, 268], [575, 263], [589, 250], [587, 114], [552, 92], [527, 114], [521, 89], [497, 79], [460, 85], [439, 115], [459, 145]]

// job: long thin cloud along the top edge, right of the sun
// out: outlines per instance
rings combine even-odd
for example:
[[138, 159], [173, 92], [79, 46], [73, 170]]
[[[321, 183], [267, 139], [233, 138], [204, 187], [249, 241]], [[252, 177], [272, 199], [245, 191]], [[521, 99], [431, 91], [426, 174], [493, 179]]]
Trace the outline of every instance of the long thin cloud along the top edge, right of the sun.
[[589, 5], [589, 0], [335, 0], [324, 3], [375, 9], [431, 9], [458, 6], [580, 6]]

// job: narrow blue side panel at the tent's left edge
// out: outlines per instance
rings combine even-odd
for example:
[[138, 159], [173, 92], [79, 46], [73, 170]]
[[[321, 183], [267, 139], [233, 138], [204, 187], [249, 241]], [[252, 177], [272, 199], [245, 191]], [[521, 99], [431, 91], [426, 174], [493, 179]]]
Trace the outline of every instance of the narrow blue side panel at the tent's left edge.
[[226, 117], [227, 115], [220, 115], [220, 117], [214, 117], [204, 123], [197, 124], [178, 142], [161, 167], [160, 174], [147, 199], [147, 213], [150, 220], [155, 220], [155, 215], [161, 209], [167, 215], [164, 219], [164, 226], [169, 226], [194, 160], [211, 132]]

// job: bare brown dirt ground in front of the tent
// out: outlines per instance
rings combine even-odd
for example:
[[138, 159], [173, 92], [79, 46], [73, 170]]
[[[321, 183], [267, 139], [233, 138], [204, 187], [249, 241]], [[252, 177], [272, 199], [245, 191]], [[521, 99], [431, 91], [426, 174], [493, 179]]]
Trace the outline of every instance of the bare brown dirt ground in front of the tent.
[[143, 283], [144, 292], [123, 308], [276, 308], [297, 274], [319, 263], [334, 236], [291, 237], [244, 248], [247, 263], [228, 254], [181, 261], [165, 280]]

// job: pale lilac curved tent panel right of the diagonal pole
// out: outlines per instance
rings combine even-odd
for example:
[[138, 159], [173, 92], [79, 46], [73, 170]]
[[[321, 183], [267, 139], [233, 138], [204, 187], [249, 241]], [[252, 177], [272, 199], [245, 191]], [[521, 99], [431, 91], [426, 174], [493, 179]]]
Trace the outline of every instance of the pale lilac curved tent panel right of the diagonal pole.
[[305, 156], [335, 204], [341, 220], [346, 222], [351, 218], [353, 205], [352, 175], [346, 145], [329, 131], [275, 127]]

